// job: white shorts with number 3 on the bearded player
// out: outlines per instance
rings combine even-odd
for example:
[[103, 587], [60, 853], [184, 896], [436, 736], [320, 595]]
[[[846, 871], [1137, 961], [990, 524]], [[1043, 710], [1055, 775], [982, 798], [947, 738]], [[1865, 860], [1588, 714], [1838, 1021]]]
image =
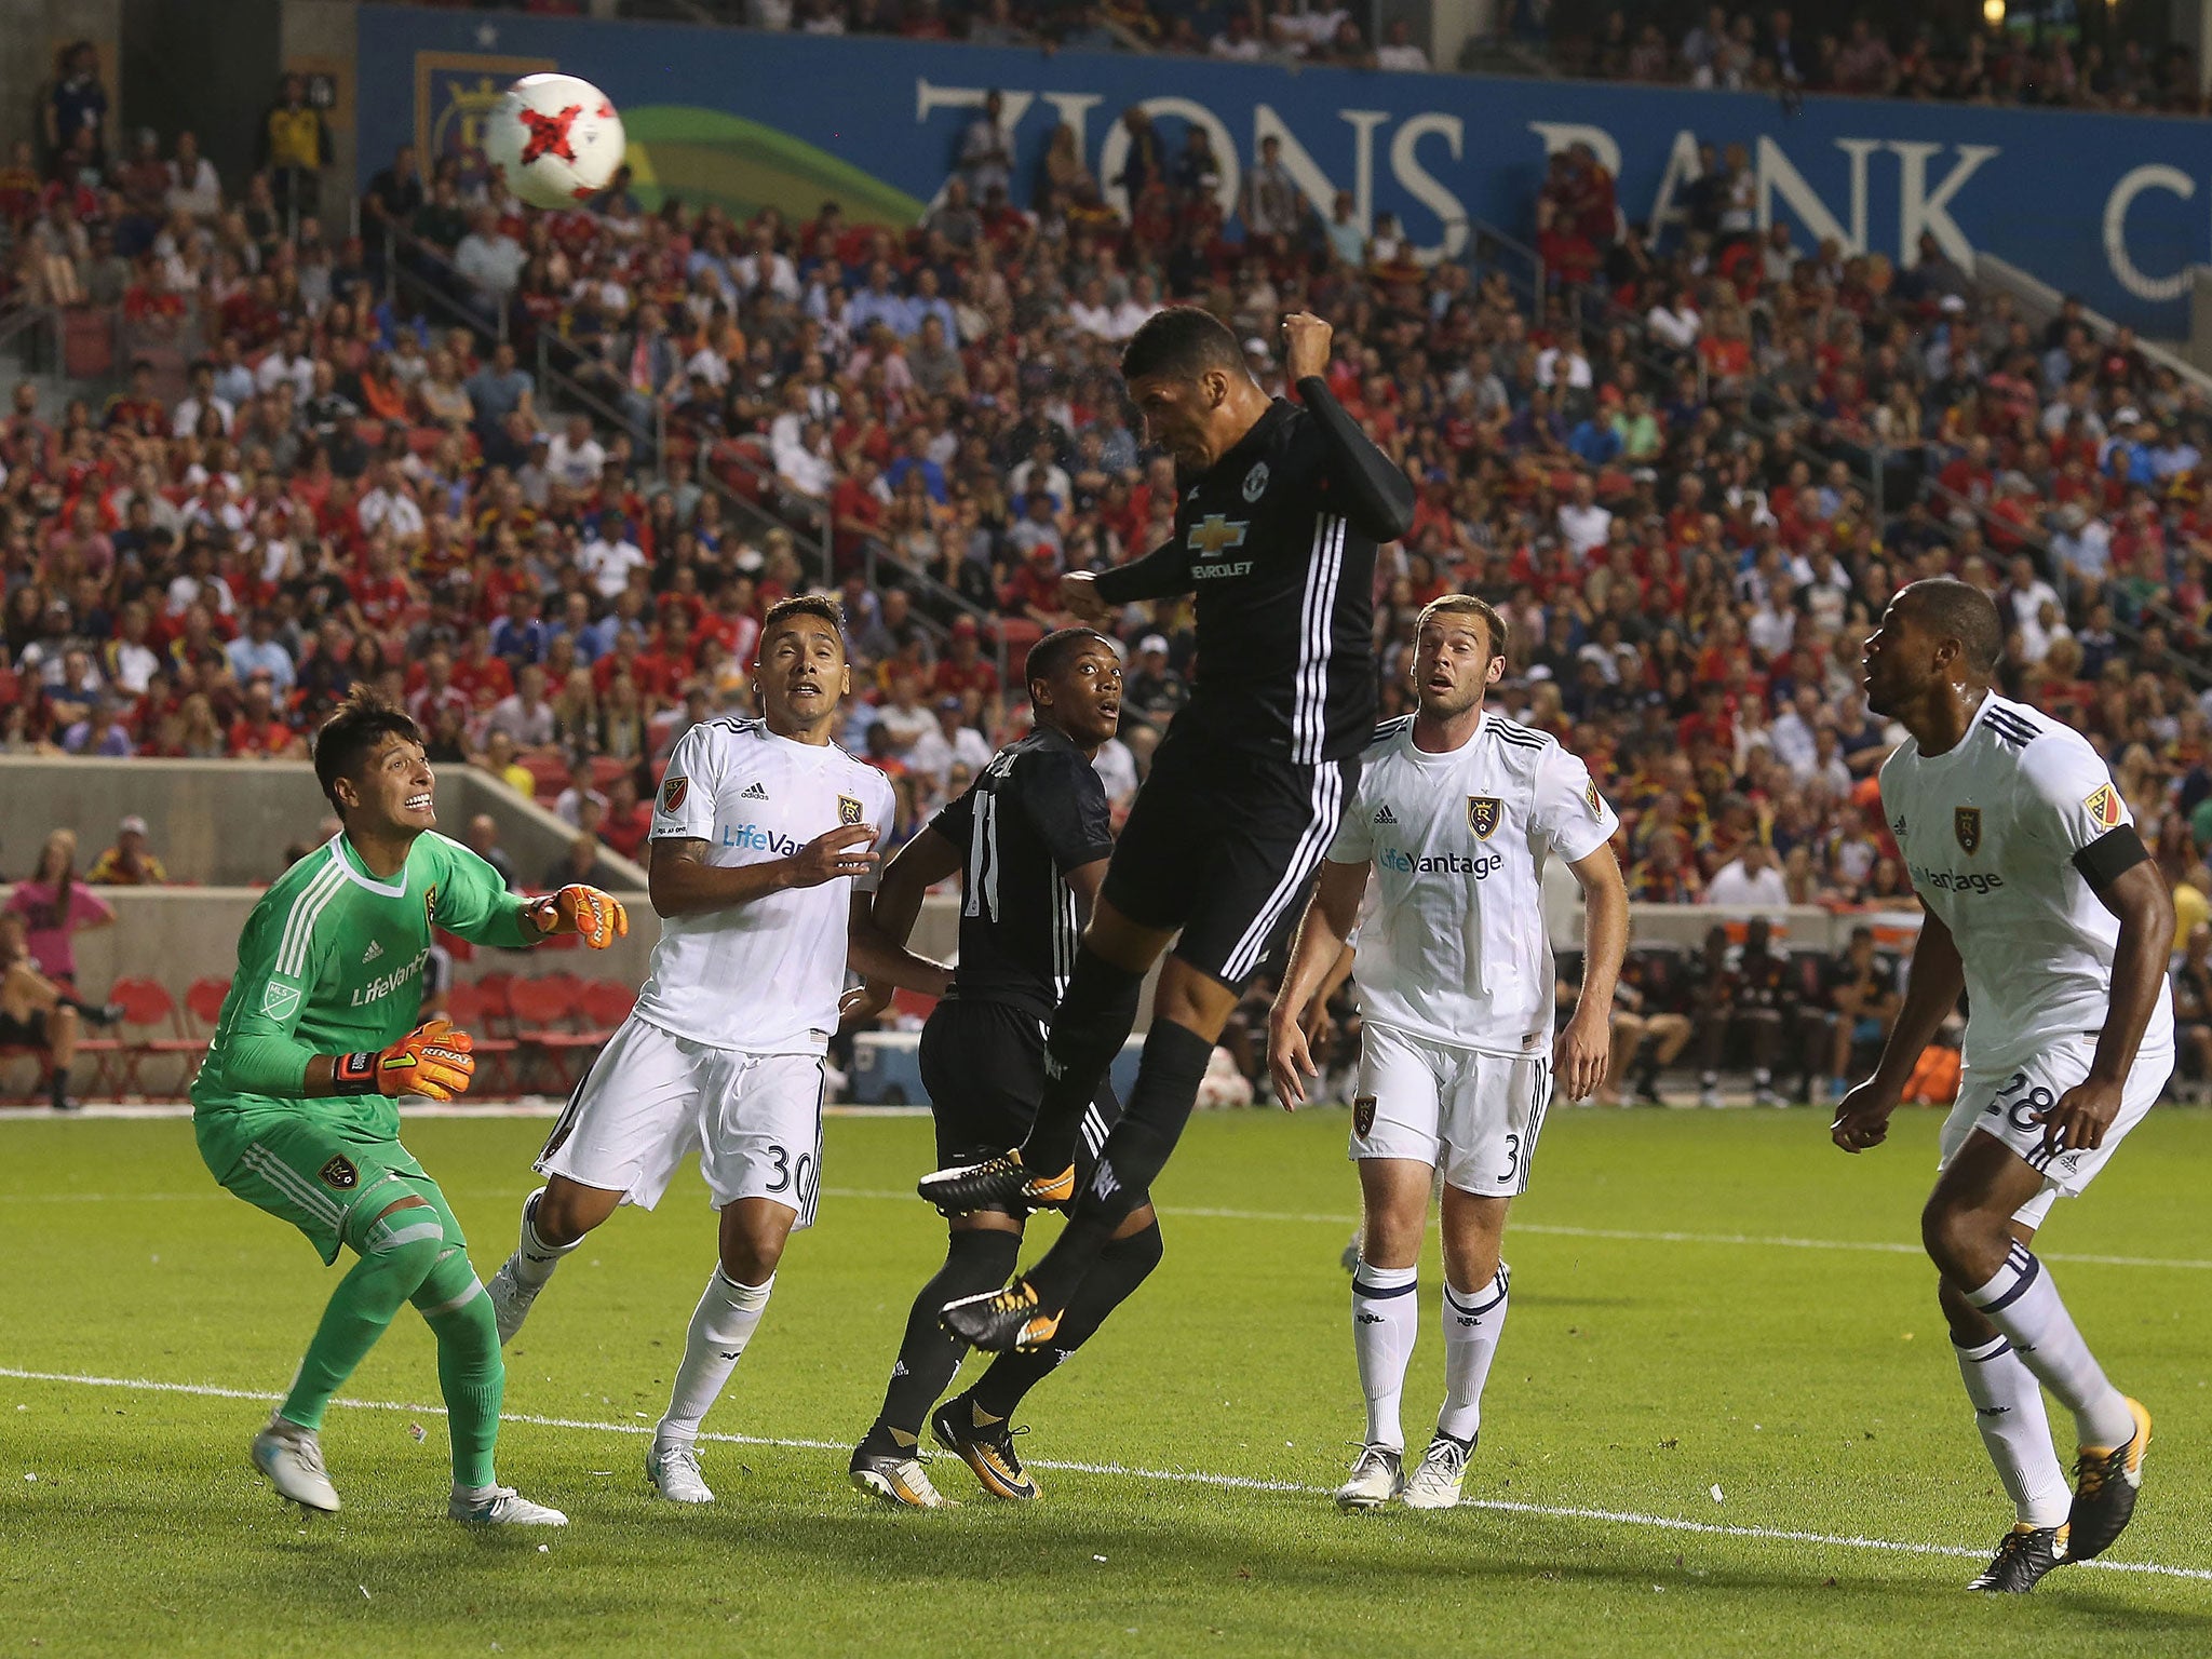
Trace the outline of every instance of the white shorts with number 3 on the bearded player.
[[1352, 1157], [1409, 1157], [1475, 1197], [1528, 1190], [1551, 1106], [1551, 1055], [1486, 1055], [1367, 1020]]

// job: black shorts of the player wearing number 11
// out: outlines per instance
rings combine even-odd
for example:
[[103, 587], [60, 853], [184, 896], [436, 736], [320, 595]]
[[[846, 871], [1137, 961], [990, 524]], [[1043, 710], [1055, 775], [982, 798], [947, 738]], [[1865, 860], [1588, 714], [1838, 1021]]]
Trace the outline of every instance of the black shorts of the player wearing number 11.
[[[922, 1088], [938, 1124], [940, 1170], [1020, 1146], [1044, 1097], [1044, 1022], [1004, 1002], [945, 998], [922, 1026]], [[1102, 1077], [1075, 1137], [1077, 1190], [1119, 1117], [1121, 1102]]]

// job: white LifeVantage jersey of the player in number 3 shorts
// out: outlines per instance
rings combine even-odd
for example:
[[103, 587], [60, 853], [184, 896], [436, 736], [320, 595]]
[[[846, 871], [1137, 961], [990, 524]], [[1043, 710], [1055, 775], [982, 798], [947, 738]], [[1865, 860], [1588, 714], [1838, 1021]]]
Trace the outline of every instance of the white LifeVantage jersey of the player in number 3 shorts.
[[1544, 863], [1579, 863], [1619, 818], [1557, 739], [1484, 712], [1449, 754], [1389, 721], [1360, 757], [1329, 860], [1369, 863], [1352, 978], [1369, 1022], [1500, 1055], [1551, 1051]]

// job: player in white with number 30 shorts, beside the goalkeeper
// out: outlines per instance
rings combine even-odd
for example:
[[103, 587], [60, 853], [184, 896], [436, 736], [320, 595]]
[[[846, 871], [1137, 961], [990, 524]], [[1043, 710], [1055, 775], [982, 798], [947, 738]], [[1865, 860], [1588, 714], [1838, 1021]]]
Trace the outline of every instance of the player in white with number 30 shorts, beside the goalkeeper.
[[869, 918], [894, 803], [883, 772], [830, 741], [852, 690], [836, 604], [776, 602], [759, 650], [763, 719], [703, 721], [668, 761], [653, 810], [650, 975], [555, 1124], [522, 1243], [487, 1285], [511, 1340], [560, 1259], [619, 1206], [650, 1210], [699, 1152], [721, 1259], [646, 1453], [653, 1486], [686, 1504], [714, 1500], [699, 1420], [761, 1323], [792, 1228], [814, 1221], [823, 1051], [847, 958], [931, 995], [949, 978]]

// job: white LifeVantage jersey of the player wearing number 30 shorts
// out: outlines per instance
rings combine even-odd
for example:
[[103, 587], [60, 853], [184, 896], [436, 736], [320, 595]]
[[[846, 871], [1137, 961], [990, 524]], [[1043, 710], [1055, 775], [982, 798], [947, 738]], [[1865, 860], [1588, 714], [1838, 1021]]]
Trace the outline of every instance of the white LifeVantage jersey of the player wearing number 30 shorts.
[[[794, 743], [761, 721], [692, 726], [653, 801], [655, 841], [703, 841], [717, 867], [790, 858], [845, 823], [891, 834], [891, 781], [834, 743]], [[637, 1015], [692, 1042], [818, 1055], [836, 1031], [854, 878], [750, 905], [670, 916]], [[874, 876], [858, 883], [874, 885]]]

